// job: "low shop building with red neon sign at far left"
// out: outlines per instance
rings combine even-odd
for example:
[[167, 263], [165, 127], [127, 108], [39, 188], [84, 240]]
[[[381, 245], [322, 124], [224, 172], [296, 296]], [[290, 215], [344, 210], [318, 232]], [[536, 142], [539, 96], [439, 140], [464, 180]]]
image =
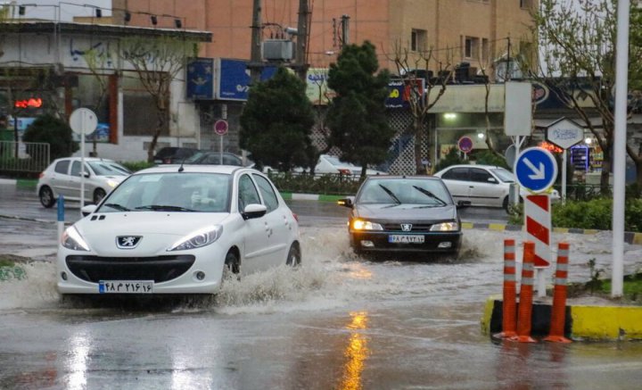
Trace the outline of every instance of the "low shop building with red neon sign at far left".
[[[69, 118], [84, 107], [96, 113], [98, 128], [86, 150], [119, 161], [147, 160], [159, 109], [135, 67], [123, 59], [124, 39], [177, 37], [209, 41], [208, 32], [148, 29], [98, 23], [4, 21], [0, 50], [0, 115], [22, 133], [45, 112]], [[150, 67], [153, 70], [153, 67]], [[196, 146], [199, 113], [185, 97], [185, 71], [169, 86], [159, 145]], [[181, 120], [177, 120], [177, 118]], [[79, 138], [78, 138], [79, 139]]]

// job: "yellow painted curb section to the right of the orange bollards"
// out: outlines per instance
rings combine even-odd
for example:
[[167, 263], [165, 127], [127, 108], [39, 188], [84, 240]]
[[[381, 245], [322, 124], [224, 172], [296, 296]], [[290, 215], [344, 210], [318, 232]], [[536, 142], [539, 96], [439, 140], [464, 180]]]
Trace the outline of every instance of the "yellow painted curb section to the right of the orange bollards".
[[642, 306], [572, 306], [572, 336], [642, 339]]

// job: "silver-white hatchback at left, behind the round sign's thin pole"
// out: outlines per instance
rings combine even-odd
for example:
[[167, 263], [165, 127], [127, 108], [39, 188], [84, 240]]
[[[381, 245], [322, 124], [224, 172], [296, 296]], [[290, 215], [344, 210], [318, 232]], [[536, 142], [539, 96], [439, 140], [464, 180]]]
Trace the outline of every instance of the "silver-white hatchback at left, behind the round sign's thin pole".
[[[131, 171], [118, 162], [97, 157], [85, 158], [85, 201], [99, 203], [113, 187], [127, 178]], [[54, 160], [37, 182], [37, 195], [46, 208], [52, 207], [62, 195], [65, 200], [80, 201], [80, 157]]]

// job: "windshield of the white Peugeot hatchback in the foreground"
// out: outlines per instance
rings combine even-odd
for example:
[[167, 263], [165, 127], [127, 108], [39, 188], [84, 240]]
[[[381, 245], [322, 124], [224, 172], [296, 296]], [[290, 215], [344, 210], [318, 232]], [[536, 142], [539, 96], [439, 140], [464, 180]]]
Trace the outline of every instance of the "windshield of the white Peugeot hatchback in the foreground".
[[230, 176], [218, 173], [134, 175], [97, 212], [229, 212]]

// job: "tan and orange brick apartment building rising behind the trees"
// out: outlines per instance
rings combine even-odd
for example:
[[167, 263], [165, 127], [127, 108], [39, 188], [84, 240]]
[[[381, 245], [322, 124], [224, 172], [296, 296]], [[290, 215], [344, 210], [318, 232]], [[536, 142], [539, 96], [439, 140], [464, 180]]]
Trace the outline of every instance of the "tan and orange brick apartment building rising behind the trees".
[[[263, 39], [292, 37], [285, 30], [297, 28], [300, 1], [259, 2]], [[112, 9], [114, 22], [174, 28], [178, 20], [185, 29], [212, 32], [213, 41], [202, 48], [203, 57], [250, 59], [254, 2], [112, 0]], [[336, 61], [344, 40], [355, 44], [369, 40], [377, 48], [380, 65], [393, 72], [396, 68], [392, 58], [400, 48], [409, 50], [412, 58], [431, 53], [435, 64], [469, 62], [476, 71], [482, 67], [488, 70], [494, 60], [510, 52], [532, 53], [530, 12], [538, 3], [538, 0], [308, 0], [308, 63], [311, 68], [325, 68]]]

